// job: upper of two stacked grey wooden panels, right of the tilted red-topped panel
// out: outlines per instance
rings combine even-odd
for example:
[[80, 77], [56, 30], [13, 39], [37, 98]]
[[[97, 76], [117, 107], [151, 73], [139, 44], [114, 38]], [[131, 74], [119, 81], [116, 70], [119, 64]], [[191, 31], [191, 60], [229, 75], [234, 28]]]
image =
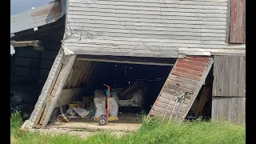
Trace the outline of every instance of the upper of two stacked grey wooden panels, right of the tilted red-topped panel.
[[242, 56], [214, 56], [213, 96], [245, 97], [246, 63]]

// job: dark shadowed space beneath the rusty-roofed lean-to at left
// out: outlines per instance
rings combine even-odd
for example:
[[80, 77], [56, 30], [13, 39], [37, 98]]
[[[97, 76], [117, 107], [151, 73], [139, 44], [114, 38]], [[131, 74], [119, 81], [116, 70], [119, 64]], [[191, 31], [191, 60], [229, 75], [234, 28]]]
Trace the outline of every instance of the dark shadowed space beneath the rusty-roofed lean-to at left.
[[[42, 86], [58, 54], [64, 34], [65, 17], [58, 22], [24, 30], [10, 38], [15, 54], [10, 55], [11, 111], [18, 110], [29, 118], [41, 93]], [[38, 46], [20, 45], [20, 42], [38, 41]], [[25, 115], [24, 115], [25, 114]]]

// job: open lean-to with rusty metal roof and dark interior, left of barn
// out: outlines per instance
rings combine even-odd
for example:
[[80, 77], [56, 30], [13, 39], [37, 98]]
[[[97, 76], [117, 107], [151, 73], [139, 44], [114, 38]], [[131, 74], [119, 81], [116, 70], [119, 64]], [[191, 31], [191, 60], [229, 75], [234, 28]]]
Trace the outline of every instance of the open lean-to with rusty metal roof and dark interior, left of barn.
[[[15, 50], [10, 56], [11, 103], [12, 99], [22, 100], [27, 113], [34, 110], [62, 44], [65, 8], [66, 1], [51, 2], [10, 17], [10, 45]], [[22, 109], [20, 100], [11, 108], [18, 103], [18, 110]]]

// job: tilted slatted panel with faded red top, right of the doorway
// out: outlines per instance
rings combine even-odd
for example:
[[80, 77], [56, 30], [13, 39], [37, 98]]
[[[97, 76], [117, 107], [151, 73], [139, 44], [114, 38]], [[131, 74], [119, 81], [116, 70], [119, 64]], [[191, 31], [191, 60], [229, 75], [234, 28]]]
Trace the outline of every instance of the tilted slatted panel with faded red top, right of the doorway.
[[[167, 116], [170, 115], [178, 94], [187, 91], [189, 94], [178, 114], [178, 120], [182, 121], [194, 103], [194, 99], [197, 97], [212, 64], [213, 58], [210, 57], [187, 56], [186, 58], [179, 58], [170, 71], [170, 75], [166, 79], [166, 83], [148, 116], [163, 117], [166, 110]], [[174, 87], [176, 84], [178, 84], [178, 87]], [[170, 106], [167, 108], [169, 103]], [[178, 110], [178, 105], [174, 108], [174, 114]]]

